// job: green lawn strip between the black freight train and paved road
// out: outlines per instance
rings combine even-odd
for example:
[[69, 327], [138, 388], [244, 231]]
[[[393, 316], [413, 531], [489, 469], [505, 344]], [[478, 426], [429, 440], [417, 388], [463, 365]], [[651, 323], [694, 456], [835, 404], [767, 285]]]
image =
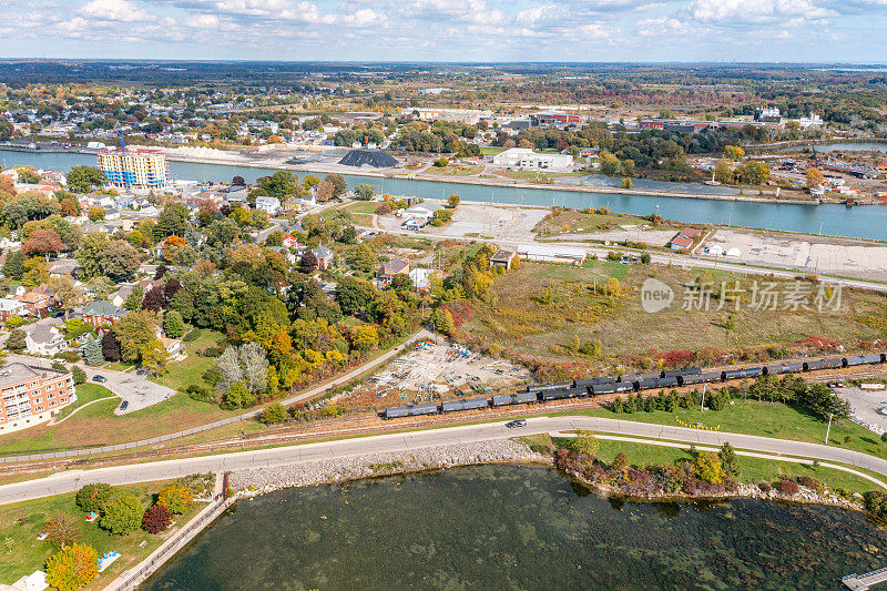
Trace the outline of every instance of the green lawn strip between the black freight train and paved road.
[[[825, 422], [801, 409], [779, 403], [759, 403], [756, 400], [734, 400], [733, 405], [728, 405], [720, 411], [681, 409], [677, 412], [654, 410], [653, 412], [641, 411], [618, 415], [609, 408], [598, 407], [563, 414], [615, 418], [673, 427], [680, 426], [677, 422], [677, 418], [680, 418], [683, 422], [691, 425], [701, 422], [711, 428], [720, 426], [720, 430], [726, 432], [758, 435], [810, 444], [824, 444], [826, 431]], [[828, 444], [873, 456], [884, 457], [887, 455], [887, 447], [881, 444], [878, 436], [849, 420], [832, 424]]]

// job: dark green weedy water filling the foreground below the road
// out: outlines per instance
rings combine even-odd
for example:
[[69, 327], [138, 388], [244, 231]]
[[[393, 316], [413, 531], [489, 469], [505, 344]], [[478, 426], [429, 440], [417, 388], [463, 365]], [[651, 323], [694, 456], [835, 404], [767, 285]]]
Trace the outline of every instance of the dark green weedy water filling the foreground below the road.
[[842, 509], [622, 502], [479, 466], [242, 501], [144, 589], [839, 589], [885, 549]]

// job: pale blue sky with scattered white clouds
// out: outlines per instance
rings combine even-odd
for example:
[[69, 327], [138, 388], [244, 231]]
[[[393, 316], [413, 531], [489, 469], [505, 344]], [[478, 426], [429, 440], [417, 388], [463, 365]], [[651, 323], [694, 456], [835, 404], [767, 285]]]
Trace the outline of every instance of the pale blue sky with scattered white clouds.
[[0, 58], [887, 62], [887, 0], [0, 0]]

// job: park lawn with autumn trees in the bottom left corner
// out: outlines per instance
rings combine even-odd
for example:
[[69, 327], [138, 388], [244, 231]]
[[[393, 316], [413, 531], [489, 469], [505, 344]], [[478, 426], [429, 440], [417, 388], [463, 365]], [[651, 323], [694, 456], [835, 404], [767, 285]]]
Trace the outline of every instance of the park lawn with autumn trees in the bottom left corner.
[[[152, 496], [164, 483], [145, 482], [116, 488], [136, 495], [142, 500], [142, 505], [147, 508], [152, 503]], [[95, 590], [103, 589], [124, 570], [137, 564], [204, 506], [205, 503], [194, 503], [185, 514], [176, 516], [176, 526], [161, 536], [152, 536], [142, 530], [126, 536], [114, 536], [101, 529], [96, 521], [88, 523], [85, 521], [86, 513], [77, 506], [73, 492], [3, 506], [3, 510], [0, 511], [0, 538], [4, 540], [4, 543], [11, 543], [12, 549], [0, 551], [0, 581], [12, 583], [22, 575], [43, 569], [47, 559], [55, 550], [48, 541], [39, 541], [37, 536], [42, 531], [47, 518], [53, 513], [64, 512], [74, 516], [81, 523], [82, 541], [92, 546], [100, 557], [112, 550], [122, 554], [92, 584], [84, 588]], [[145, 547], [139, 548], [143, 541], [146, 542]]]

